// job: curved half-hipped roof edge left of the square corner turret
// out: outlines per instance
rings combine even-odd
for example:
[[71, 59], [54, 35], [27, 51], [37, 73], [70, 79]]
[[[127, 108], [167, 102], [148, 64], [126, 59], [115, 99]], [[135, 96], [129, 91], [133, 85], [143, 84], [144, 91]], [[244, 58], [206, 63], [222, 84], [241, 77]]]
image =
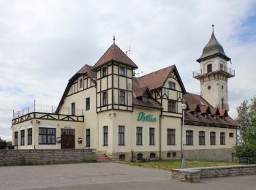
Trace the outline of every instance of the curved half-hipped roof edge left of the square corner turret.
[[59, 102], [59, 105], [57, 107], [56, 113], [59, 113], [59, 110], [61, 109], [61, 105], [64, 103], [64, 99], [69, 93], [69, 88], [72, 86], [72, 83], [80, 76], [80, 75], [88, 75], [88, 77], [91, 78], [92, 81], [94, 81], [94, 78], [96, 77], [96, 73], [92, 71], [92, 66], [85, 64], [75, 75], [73, 75], [69, 82], [67, 83], [67, 86], [65, 88], [64, 93], [61, 96], [61, 101]]

